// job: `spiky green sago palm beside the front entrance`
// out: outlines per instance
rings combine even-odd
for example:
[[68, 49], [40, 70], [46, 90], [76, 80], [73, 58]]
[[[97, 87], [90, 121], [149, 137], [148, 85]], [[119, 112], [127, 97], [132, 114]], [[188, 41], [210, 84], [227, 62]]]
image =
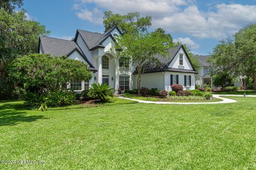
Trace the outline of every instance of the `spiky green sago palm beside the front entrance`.
[[107, 101], [114, 96], [114, 89], [109, 87], [106, 83], [93, 83], [89, 89], [88, 96], [97, 98], [100, 101]]

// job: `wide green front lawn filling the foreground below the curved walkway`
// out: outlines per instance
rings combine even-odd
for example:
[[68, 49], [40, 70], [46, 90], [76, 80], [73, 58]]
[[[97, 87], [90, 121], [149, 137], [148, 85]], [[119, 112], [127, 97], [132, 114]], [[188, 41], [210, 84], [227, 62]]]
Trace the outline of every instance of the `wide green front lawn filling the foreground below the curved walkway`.
[[[0, 169], [256, 169], [256, 98], [54, 111], [0, 103]], [[122, 100], [122, 101], [121, 101]]]

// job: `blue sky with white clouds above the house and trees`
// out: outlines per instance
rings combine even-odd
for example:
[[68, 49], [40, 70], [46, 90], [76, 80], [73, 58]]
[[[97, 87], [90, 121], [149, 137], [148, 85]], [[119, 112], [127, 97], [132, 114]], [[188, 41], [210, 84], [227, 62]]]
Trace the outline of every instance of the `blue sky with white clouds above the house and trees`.
[[151, 16], [149, 31], [163, 28], [194, 54], [212, 53], [220, 40], [256, 23], [256, 0], [25, 0], [30, 20], [51, 31], [50, 37], [71, 39], [77, 29], [103, 32], [103, 12], [139, 12]]

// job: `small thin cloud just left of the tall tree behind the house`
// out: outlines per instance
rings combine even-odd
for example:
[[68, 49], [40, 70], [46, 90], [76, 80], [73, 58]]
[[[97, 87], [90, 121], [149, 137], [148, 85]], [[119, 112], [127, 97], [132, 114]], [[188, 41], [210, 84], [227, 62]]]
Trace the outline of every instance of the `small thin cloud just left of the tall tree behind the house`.
[[94, 24], [102, 24], [103, 21], [103, 13], [99, 8], [95, 7], [92, 11], [87, 10], [87, 8], [82, 9], [80, 12], [77, 12], [76, 15], [78, 18], [90, 21]]

